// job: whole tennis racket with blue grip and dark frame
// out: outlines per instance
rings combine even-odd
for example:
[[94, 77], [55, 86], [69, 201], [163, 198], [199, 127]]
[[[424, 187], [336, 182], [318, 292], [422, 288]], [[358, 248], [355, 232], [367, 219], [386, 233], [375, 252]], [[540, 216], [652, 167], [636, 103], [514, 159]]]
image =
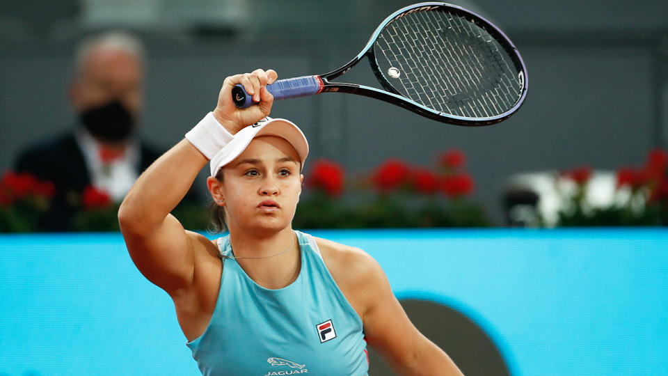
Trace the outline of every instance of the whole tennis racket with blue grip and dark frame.
[[[332, 82], [367, 57], [385, 90]], [[522, 58], [505, 34], [481, 15], [448, 3], [417, 3], [392, 13], [355, 58], [324, 75], [280, 79], [275, 100], [319, 93], [376, 98], [456, 125], [491, 125], [515, 113], [527, 95]], [[255, 104], [237, 85], [237, 107]]]

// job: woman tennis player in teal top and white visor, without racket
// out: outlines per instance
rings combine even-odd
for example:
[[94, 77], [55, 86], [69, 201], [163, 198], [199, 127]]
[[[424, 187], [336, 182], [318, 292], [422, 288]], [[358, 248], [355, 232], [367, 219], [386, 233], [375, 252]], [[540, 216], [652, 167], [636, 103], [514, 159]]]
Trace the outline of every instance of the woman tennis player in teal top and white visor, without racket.
[[[308, 143], [288, 120], [266, 118], [276, 78], [227, 77], [216, 109], [138, 178], [118, 212], [132, 260], [173, 299], [202, 374], [366, 375], [368, 342], [401, 375], [461, 375], [408, 320], [373, 258], [292, 229]], [[235, 84], [258, 105], [237, 109]], [[229, 230], [216, 241], [169, 214], [207, 163]]]

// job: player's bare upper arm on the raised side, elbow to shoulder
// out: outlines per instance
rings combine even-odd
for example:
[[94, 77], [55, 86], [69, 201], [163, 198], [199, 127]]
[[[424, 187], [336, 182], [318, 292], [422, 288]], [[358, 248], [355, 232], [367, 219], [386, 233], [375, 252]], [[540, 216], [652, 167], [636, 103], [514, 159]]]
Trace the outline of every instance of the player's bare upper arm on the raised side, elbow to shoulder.
[[150, 233], [123, 231], [123, 237], [134, 265], [159, 288], [170, 293], [193, 281], [195, 249], [202, 246], [201, 240], [171, 214]]

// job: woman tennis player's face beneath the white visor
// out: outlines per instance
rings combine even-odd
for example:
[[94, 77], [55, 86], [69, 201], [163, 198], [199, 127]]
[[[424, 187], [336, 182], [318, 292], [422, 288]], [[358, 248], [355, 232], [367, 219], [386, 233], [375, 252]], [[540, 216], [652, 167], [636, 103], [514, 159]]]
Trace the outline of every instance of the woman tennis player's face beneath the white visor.
[[283, 230], [296, 210], [301, 182], [299, 155], [284, 139], [260, 136], [223, 168], [220, 193], [230, 230]]

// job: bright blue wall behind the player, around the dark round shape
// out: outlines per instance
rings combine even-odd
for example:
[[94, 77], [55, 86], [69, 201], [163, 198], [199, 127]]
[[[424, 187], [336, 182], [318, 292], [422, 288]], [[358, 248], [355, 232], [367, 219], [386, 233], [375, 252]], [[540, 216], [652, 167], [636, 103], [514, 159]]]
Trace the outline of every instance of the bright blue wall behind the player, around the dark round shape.
[[[477, 322], [512, 375], [668, 374], [668, 230], [312, 234]], [[198, 375], [118, 234], [0, 236], [0, 302], [0, 375]]]

